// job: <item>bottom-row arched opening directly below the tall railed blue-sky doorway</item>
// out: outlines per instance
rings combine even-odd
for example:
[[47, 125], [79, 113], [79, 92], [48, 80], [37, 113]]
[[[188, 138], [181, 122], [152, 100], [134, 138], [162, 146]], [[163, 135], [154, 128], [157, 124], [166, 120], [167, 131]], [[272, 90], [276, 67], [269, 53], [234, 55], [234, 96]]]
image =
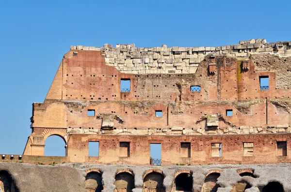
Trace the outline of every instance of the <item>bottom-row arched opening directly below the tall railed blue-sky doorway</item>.
[[163, 186], [164, 176], [161, 173], [152, 172], [144, 178], [143, 192], [165, 192]]

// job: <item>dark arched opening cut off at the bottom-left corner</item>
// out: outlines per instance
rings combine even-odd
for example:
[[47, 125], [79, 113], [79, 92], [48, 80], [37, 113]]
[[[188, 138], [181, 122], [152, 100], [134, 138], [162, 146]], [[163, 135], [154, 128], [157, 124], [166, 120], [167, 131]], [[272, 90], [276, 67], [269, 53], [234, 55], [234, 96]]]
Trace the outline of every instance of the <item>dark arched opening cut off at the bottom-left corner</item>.
[[7, 171], [0, 171], [0, 192], [18, 192], [15, 182]]

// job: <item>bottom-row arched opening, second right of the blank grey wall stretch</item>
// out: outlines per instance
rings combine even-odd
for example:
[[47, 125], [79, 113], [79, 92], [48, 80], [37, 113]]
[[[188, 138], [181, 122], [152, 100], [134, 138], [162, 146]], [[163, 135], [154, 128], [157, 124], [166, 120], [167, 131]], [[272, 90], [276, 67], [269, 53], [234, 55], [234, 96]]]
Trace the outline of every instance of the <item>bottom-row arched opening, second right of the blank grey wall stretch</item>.
[[131, 192], [134, 186], [134, 177], [130, 173], [122, 172], [115, 176], [115, 192]]

